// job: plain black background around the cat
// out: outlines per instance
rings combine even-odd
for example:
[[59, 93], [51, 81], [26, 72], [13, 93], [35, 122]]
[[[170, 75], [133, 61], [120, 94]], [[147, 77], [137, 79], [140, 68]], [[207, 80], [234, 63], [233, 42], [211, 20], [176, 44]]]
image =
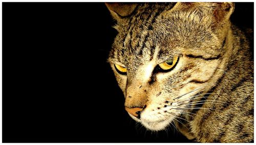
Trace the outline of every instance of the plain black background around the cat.
[[[253, 3], [231, 21], [253, 28]], [[3, 3], [3, 142], [189, 142], [125, 112], [114, 24], [104, 3]]]

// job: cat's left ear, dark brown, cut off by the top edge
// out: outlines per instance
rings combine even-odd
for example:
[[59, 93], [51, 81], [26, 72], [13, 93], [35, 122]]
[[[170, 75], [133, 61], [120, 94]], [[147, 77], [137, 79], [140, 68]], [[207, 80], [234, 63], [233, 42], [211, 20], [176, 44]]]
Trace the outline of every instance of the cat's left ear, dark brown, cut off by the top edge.
[[131, 16], [137, 7], [136, 3], [105, 3], [105, 5], [118, 22]]

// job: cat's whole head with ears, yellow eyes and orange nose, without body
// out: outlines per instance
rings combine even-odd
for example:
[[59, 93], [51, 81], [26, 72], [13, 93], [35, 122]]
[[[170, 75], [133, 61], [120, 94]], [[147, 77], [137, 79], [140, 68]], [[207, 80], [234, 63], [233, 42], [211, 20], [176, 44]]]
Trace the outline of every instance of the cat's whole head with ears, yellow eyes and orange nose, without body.
[[118, 31], [108, 61], [130, 116], [162, 130], [189, 115], [222, 75], [233, 4], [106, 5]]

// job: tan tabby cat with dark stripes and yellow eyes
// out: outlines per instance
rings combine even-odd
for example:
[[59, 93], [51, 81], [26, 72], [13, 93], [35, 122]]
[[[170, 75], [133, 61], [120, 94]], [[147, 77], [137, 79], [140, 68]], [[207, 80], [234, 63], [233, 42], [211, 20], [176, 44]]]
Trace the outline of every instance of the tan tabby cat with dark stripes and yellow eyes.
[[233, 3], [105, 4], [118, 31], [108, 62], [131, 118], [198, 142], [253, 142], [253, 55]]

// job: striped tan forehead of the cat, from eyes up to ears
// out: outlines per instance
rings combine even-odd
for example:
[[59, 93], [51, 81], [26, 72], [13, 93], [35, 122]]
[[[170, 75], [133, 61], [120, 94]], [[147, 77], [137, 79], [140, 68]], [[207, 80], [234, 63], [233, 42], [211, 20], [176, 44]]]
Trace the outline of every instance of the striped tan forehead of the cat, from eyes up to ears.
[[179, 54], [181, 48], [211, 47], [214, 34], [210, 24], [210, 18], [187, 12], [140, 13], [124, 25], [116, 26], [119, 34], [110, 57], [125, 65], [138, 65], [150, 62], [154, 54], [156, 60], [166, 61]]

